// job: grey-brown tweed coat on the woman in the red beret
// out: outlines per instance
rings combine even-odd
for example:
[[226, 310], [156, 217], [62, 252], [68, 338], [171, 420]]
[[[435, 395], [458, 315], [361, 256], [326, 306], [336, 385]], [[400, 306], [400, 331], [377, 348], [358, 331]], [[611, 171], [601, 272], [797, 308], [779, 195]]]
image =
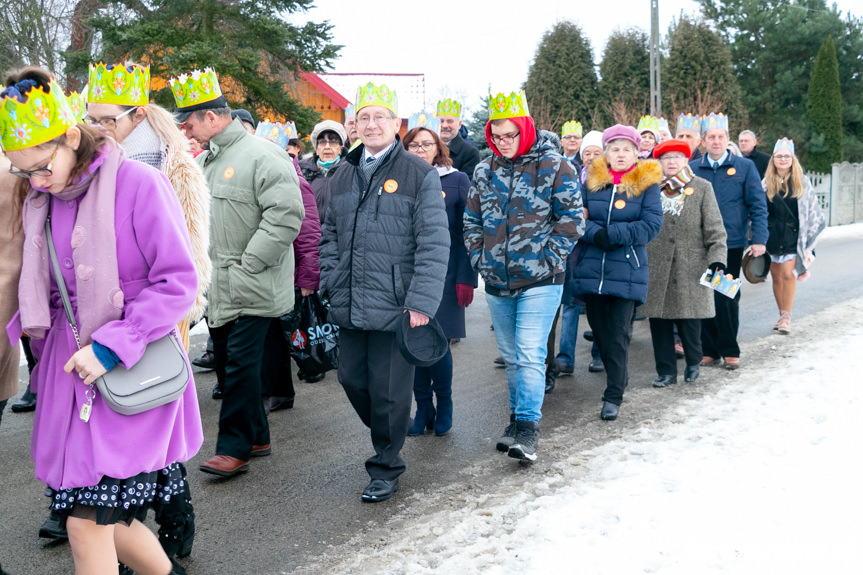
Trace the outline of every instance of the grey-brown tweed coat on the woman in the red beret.
[[664, 215], [662, 231], [647, 244], [650, 279], [641, 313], [663, 319], [699, 319], [715, 315], [713, 290], [698, 281], [713, 262], [726, 263], [725, 226], [713, 186], [695, 177], [679, 216]]

